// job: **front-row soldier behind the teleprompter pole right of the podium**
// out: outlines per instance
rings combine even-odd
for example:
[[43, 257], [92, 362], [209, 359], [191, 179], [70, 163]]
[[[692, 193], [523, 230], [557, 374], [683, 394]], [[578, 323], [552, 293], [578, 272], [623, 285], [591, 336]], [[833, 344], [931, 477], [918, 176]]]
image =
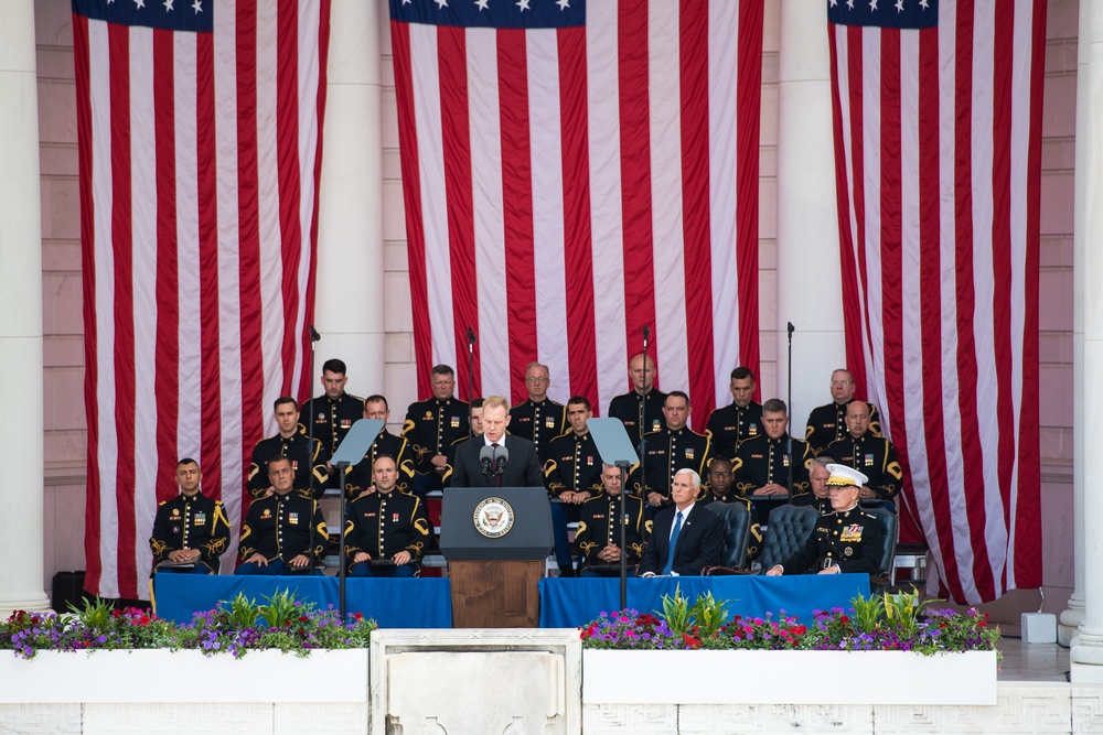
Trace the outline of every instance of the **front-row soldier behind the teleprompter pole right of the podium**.
[[[570, 406], [568, 403], [568, 406]], [[621, 477], [615, 465], [601, 466], [601, 490], [581, 506], [575, 541], [582, 552], [580, 576], [614, 576], [620, 574]], [[624, 523], [624, 549], [629, 573], [643, 555], [645, 534], [651, 532], [651, 521], [644, 519], [643, 500], [629, 495], [624, 498], [628, 522]], [[617, 564], [618, 569], [595, 570], [593, 565]]]

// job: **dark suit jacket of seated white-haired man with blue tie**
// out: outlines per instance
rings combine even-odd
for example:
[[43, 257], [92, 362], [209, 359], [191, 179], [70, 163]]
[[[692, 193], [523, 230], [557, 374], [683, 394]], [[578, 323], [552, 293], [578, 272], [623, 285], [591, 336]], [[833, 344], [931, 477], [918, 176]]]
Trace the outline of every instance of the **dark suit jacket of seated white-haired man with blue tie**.
[[[646, 572], [663, 573], [670, 553], [671, 527], [674, 526], [674, 514], [677, 510], [676, 506], [671, 506], [660, 510], [655, 516], [654, 531], [651, 533], [647, 549], [643, 552], [636, 572], [639, 576], [643, 576]], [[722, 552], [724, 521], [703, 502], [695, 502], [689, 516], [682, 521], [678, 542], [674, 549], [672, 571], [683, 575], [700, 574], [700, 570], [705, 566], [719, 564]]]

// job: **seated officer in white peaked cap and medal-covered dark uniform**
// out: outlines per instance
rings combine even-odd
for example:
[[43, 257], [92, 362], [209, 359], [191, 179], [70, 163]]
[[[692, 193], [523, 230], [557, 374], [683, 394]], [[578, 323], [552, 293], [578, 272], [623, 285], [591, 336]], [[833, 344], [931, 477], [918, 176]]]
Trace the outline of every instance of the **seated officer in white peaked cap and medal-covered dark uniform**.
[[828, 466], [832, 512], [821, 516], [808, 540], [767, 574], [876, 574], [885, 531], [877, 517], [858, 507], [858, 487], [868, 483], [860, 472], [845, 465]]

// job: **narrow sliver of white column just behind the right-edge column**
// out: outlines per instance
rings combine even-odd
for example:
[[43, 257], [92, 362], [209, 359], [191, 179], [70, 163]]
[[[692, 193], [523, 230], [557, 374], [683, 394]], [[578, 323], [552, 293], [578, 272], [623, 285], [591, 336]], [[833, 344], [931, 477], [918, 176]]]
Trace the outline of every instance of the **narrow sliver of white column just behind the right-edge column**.
[[[1080, 3], [1080, 37], [1090, 37], [1091, 3]], [[1084, 193], [1088, 183], [1089, 94], [1088, 52], [1090, 44], [1077, 46], [1077, 142], [1075, 190], [1073, 194], [1072, 246], [1072, 543], [1073, 590], [1068, 608], [1057, 627], [1058, 642], [1072, 646], [1084, 621]]]

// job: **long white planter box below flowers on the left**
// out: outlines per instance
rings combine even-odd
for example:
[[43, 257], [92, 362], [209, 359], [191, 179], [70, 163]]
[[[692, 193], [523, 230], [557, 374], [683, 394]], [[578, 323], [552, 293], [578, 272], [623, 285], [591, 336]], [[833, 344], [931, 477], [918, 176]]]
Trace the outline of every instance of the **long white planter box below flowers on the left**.
[[[0, 704], [367, 702], [367, 649], [205, 657], [167, 649], [0, 651]], [[186, 682], [186, 683], [184, 683]]]

